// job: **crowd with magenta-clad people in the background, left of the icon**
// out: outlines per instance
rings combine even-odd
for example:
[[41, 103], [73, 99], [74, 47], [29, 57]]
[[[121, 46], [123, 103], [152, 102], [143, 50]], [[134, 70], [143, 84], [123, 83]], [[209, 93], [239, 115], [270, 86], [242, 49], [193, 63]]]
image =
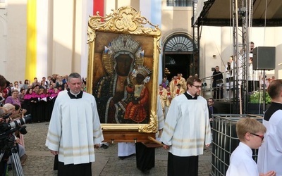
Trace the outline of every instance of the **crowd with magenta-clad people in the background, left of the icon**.
[[[32, 122], [47, 122], [51, 118], [54, 102], [59, 92], [68, 89], [68, 75], [53, 74], [42, 77], [41, 81], [34, 78], [33, 82], [25, 80], [8, 82], [8, 85], [0, 93], [1, 106], [6, 103], [20, 106], [25, 109], [25, 114], [32, 115]], [[82, 91], [86, 90], [86, 80], [82, 79]]]

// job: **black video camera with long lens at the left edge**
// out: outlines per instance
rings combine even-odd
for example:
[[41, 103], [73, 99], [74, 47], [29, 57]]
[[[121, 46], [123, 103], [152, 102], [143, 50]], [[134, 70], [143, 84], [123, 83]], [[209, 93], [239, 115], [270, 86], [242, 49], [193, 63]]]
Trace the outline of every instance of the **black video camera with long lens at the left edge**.
[[[6, 120], [6, 118], [8, 118], [10, 115], [11, 113], [2, 116], [2, 118]], [[26, 122], [30, 122], [31, 120], [32, 117], [30, 114], [28, 114], [23, 118], [0, 124], [0, 149], [5, 149], [6, 147], [13, 145], [15, 141], [15, 137], [11, 135], [13, 132], [18, 130], [21, 134], [26, 134], [26, 126], [22, 125], [25, 125]]]

